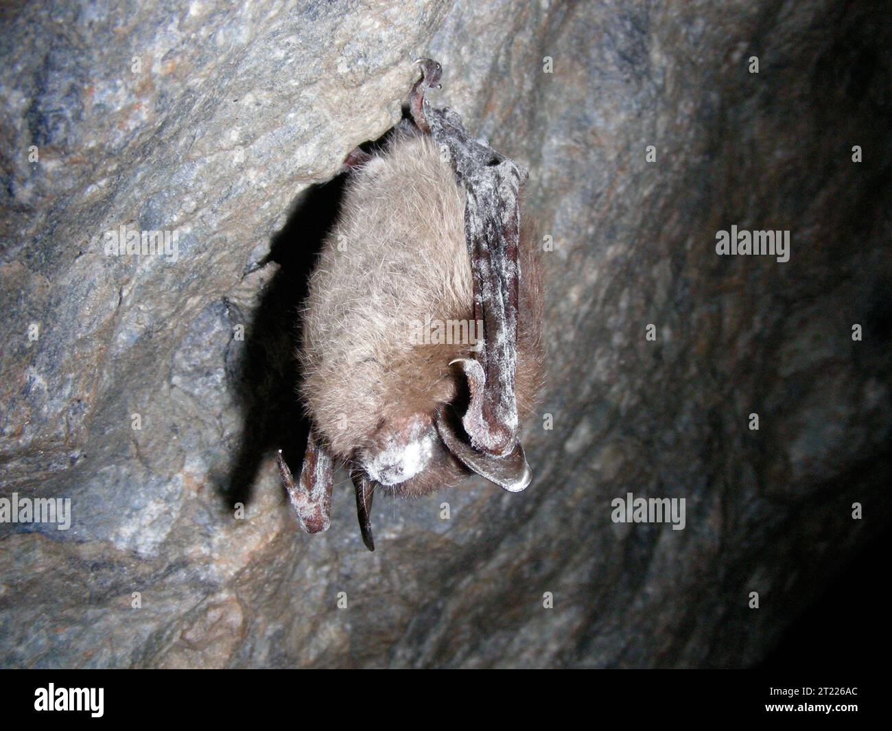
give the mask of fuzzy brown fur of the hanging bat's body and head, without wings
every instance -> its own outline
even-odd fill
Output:
[[[336,461],[359,463],[394,494],[418,496],[470,471],[446,449],[438,410],[467,407],[456,358],[472,345],[421,345],[413,321],[474,320],[465,192],[434,140],[405,126],[351,171],[339,220],[319,254],[302,313],[301,397]],[[541,270],[522,214],[516,399],[541,390]]]

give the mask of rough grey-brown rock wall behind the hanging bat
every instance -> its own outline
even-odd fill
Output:
[[[0,11],[0,496],[72,515],[0,525],[0,665],[747,666],[888,524],[879,5],[125,6]],[[297,532],[273,450],[299,466],[337,200],[308,186],[419,55],[530,170],[550,386],[530,489],[381,501],[369,553],[346,476]],[[731,225],[789,229],[789,262],[716,255]],[[107,255],[122,226],[176,255]],[[685,529],[614,523],[627,492]]]

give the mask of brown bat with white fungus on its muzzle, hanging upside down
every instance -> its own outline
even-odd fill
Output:
[[[381,154],[348,155],[343,210],[310,277],[300,360],[312,426],[296,483],[278,453],[308,533],[330,524],[335,463],[350,469],[369,551],[377,491],[418,496],[472,472],[528,486],[517,426],[541,387],[526,170],[432,108],[441,66],[417,63],[415,124]]]

